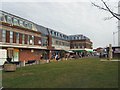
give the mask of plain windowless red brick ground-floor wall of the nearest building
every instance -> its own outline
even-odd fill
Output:
[[[40,60],[40,56],[40,50],[34,50],[34,52],[31,52],[31,49],[23,49],[19,52],[20,61]]]

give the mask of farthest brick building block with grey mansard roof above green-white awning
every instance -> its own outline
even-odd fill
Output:
[[[82,34],[80,35],[70,35],[70,50],[76,52],[78,55],[84,54],[88,55],[90,52],[93,52],[92,42],[90,39]]]

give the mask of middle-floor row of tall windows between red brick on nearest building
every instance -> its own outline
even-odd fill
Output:
[[[15,37],[13,34],[16,34]],[[20,34],[21,33],[17,33],[17,32],[13,32],[10,31],[9,33],[9,42],[10,43],[14,43],[14,38],[16,38],[16,43],[20,44]],[[35,36],[31,36],[31,35],[27,35],[27,37],[25,37],[26,34],[21,34],[22,35],[22,43],[21,44],[30,44],[30,45],[34,45],[35,42]],[[2,42],[7,42],[6,39],[7,38],[7,30],[2,30]],[[25,43],[25,41],[27,41],[27,43]],[[41,44],[41,40],[38,40],[38,44]]]

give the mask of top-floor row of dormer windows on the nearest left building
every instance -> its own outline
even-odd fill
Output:
[[[31,22],[5,14],[3,12],[0,13],[0,21],[7,22],[16,26],[25,27],[28,29],[33,29],[33,24]]]

